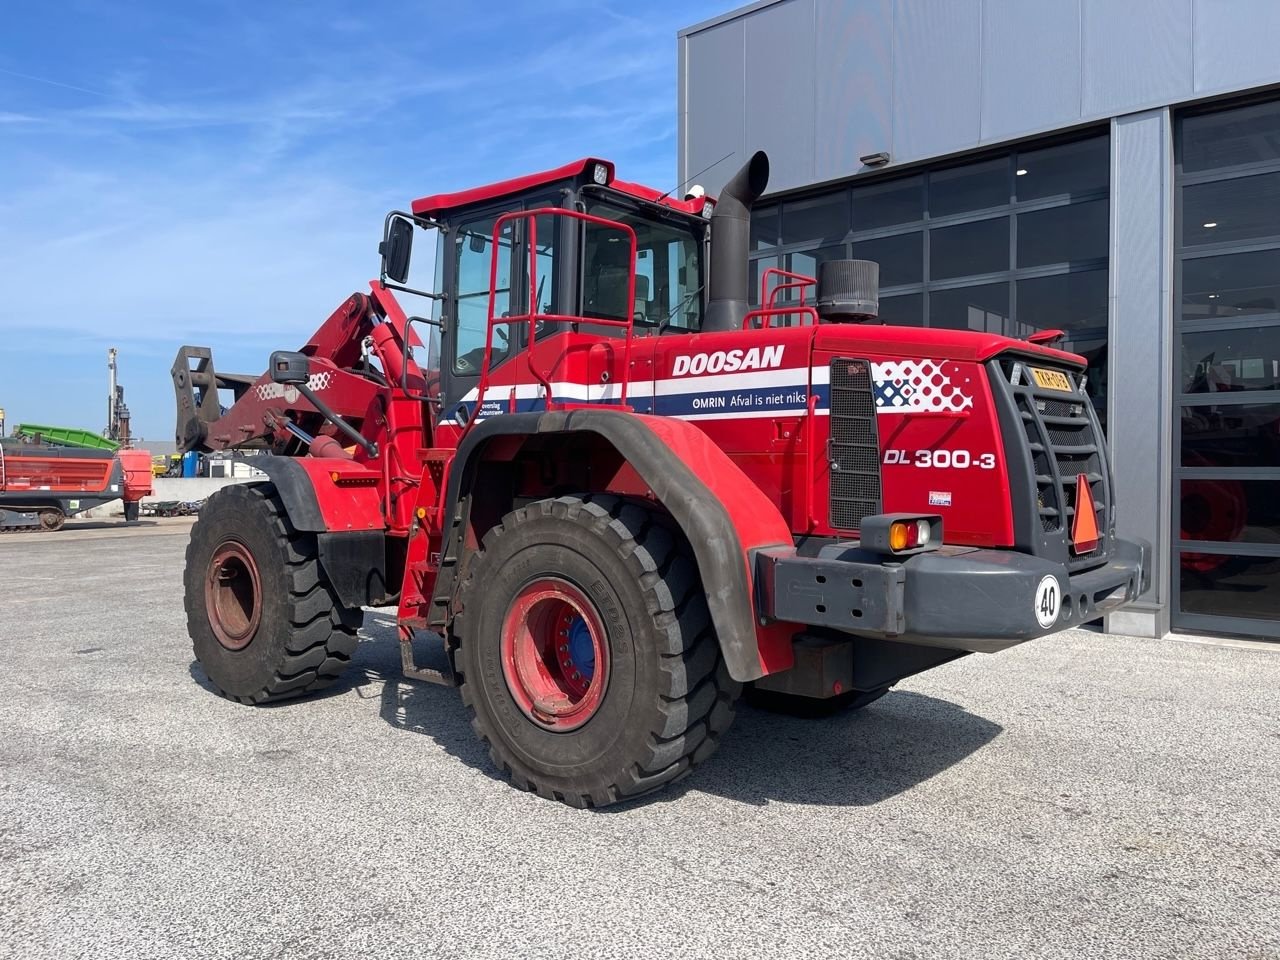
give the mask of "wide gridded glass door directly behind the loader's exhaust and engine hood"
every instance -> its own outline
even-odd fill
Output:
[[[1105,419],[1110,169],[1102,134],[760,205],[753,300],[768,268],[813,276],[823,260],[876,260],[884,323],[1064,330]]]

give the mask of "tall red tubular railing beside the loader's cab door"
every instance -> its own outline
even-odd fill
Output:
[[[608,317],[595,317],[595,316],[570,316],[567,314],[539,314],[538,308],[538,218],[539,216],[567,216],[571,220],[580,220],[581,223],[595,224],[605,229],[617,230],[622,233],[631,247],[631,255],[627,259],[630,268],[627,270],[627,298],[626,303],[626,319],[625,320],[612,320]],[[500,252],[500,239],[502,232],[509,223],[516,223],[517,220],[526,220],[527,237],[525,243],[529,247],[529,311],[527,314],[520,314],[516,316],[495,316],[494,310],[497,307],[497,291],[498,291],[498,256]],[[554,279],[553,279],[554,283]],[[495,326],[517,326],[520,324],[529,325],[529,343],[525,348],[525,356],[529,364],[529,371],[534,375],[534,379],[541,385],[545,394],[547,410],[563,410],[580,406],[591,406],[590,403],[559,403],[557,404],[554,397],[552,396],[552,381],[549,372],[544,372],[538,369],[534,362],[534,342],[538,335],[539,323],[572,323],[572,324],[590,324],[594,326],[618,326],[626,330],[626,338],[622,346],[622,370],[623,375],[618,378],[620,380],[620,397],[618,403],[621,410],[630,410],[627,406],[627,380],[631,370],[631,340],[635,333],[635,314],[634,305],[636,302],[636,232],[631,229],[625,223],[618,223],[617,220],[609,220],[603,216],[593,216],[591,214],[584,214],[579,210],[563,210],[561,207],[539,207],[536,210],[516,210],[509,214],[503,214],[499,216],[493,225],[493,260],[489,266],[489,317],[485,325],[485,339],[484,339],[484,361],[480,367],[480,383],[476,385],[476,407],[471,416],[467,417],[466,425],[462,428],[462,434],[466,435],[471,430],[472,425],[480,420],[480,411],[484,410],[485,393],[489,388],[489,365],[493,361],[493,330]],[[516,406],[516,387],[511,388],[511,397],[508,399],[508,410],[513,411]],[[460,438],[461,439],[461,438]]]

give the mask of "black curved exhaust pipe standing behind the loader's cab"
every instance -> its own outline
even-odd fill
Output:
[[[751,237],[751,205],[769,184],[769,155],[758,150],[733,174],[716,201],[712,214],[712,262],[704,330],[739,330],[751,298],[748,243]]]

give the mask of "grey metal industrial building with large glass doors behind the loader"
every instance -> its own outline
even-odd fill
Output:
[[[678,36],[681,182],[772,161],[754,278],[877,260],[888,323],[1088,358],[1157,557],[1119,632],[1280,626],[1277,37],[1272,0],[762,0]]]

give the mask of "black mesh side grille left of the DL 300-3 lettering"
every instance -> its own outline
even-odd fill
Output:
[[[858,530],[863,518],[879,513],[879,435],[870,364],[837,357],[831,361],[831,525]]]

